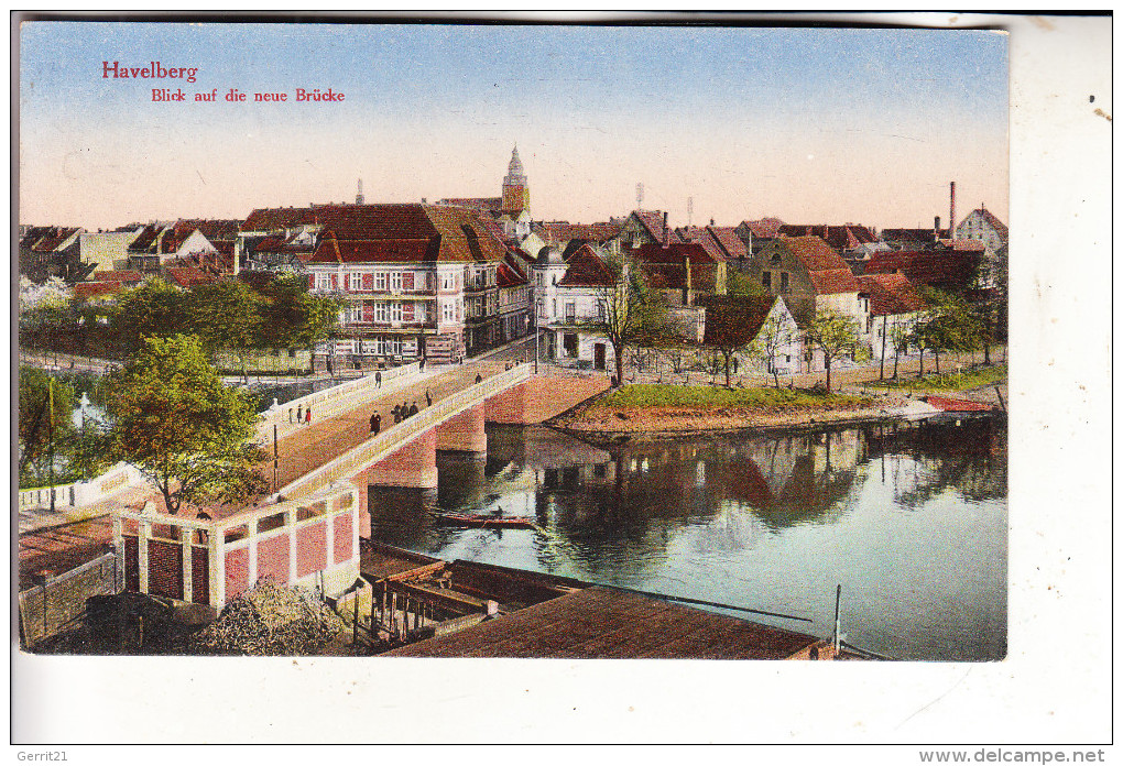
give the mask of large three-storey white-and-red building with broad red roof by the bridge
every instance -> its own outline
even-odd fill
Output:
[[[305,264],[309,286],[347,301],[340,337],[318,353],[350,365],[450,362],[501,343],[508,250],[478,211],[341,204],[314,215],[321,230]]]

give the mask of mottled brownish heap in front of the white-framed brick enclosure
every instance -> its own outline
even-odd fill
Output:
[[[191,648],[198,654],[309,655],[341,628],[339,617],[310,592],[265,577],[195,633]]]

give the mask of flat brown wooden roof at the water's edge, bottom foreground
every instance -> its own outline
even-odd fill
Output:
[[[784,659],[818,640],[805,633],[594,586],[383,656]]]

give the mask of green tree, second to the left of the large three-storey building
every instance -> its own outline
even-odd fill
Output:
[[[203,347],[213,354],[228,348],[241,362],[241,376],[249,382],[246,356],[262,343],[262,298],[240,280],[200,284],[188,297],[188,314]]]

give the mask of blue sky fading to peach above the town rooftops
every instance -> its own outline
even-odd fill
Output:
[[[536,220],[627,215],[642,183],[673,226],[928,227],[950,181],[958,219],[1008,220],[1001,31],[29,21],[19,56],[22,224],[245,218],[359,177],[367,202],[497,197],[515,144]]]

